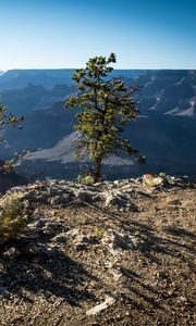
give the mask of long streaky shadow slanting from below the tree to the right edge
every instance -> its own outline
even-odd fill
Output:
[[[95,206],[95,205],[94,205]],[[107,209],[96,205],[96,210],[108,216],[112,222],[117,221],[117,228],[128,235],[137,235],[138,244],[133,247],[132,250],[140,251],[151,262],[159,264],[157,253],[170,255],[172,258],[183,256],[184,253],[194,255],[196,253],[196,247],[193,246],[189,239],[195,239],[196,236],[182,228],[166,228],[161,229],[161,235],[154,229],[152,226],[134,221],[134,218],[122,217],[120,212],[109,212]],[[171,239],[170,235],[183,236],[186,238],[185,243],[177,239]]]

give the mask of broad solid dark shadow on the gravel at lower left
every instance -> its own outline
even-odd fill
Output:
[[[34,237],[12,241],[1,250],[0,294],[15,294],[29,301],[26,292],[62,298],[71,305],[79,306],[85,300],[95,297],[85,288],[85,284],[97,280],[79,262],[64,253],[52,238],[62,231],[62,226],[53,224],[46,235],[37,231]],[[13,251],[13,253],[12,253]]]

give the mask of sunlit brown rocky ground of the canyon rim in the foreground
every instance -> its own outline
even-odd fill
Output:
[[[195,183],[51,180],[13,192],[29,217],[25,236],[0,247],[0,325],[196,324]]]

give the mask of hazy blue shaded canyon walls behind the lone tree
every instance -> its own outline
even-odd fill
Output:
[[[7,131],[8,145],[13,151],[34,153],[20,166],[21,172],[71,178],[73,166],[69,164],[76,163],[69,163],[72,149],[65,150],[65,139],[73,133],[76,111],[63,110],[63,103],[77,91],[72,73],[73,70],[13,70],[0,76],[1,102],[9,112],[24,116],[22,130]],[[121,76],[127,85],[134,82],[140,86],[136,93],[139,116],[127,126],[125,137],[147,156],[147,163],[130,166],[124,164],[127,161],[112,158],[107,177],[159,172],[196,176],[196,71],[115,70],[112,75]],[[61,149],[62,155],[57,160]],[[0,150],[7,158],[9,147]],[[78,174],[78,166],[74,174]]]

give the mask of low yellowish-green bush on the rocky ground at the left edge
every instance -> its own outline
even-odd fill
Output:
[[[8,196],[0,202],[0,243],[21,236],[26,226],[23,203],[17,195]]]

